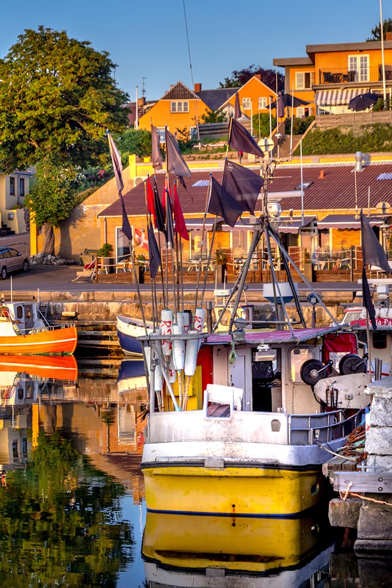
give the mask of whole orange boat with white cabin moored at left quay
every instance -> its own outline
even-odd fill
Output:
[[[35,302],[2,302],[0,354],[68,355],[76,349],[75,325],[49,325]]]

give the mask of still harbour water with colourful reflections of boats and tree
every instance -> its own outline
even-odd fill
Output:
[[[341,577],[327,505],[293,520],[146,513],[142,362],[0,358],[0,395],[2,587],[367,585],[353,556]]]

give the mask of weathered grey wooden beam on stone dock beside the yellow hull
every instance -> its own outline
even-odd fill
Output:
[[[333,489],[336,492],[349,489],[349,492],[392,493],[392,473],[334,472]]]

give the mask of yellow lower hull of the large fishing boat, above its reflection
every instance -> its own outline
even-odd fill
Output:
[[[321,467],[143,466],[150,512],[294,517],[325,499]]]

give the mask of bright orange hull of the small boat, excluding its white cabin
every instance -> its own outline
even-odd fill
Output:
[[[68,355],[78,342],[75,326],[39,330],[28,335],[0,336],[0,353],[9,355]]]

